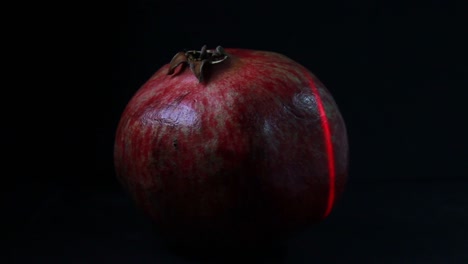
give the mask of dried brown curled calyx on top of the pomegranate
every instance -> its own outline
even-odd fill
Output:
[[[229,56],[221,46],[216,47],[215,50],[207,50],[206,45],[204,45],[200,51],[181,51],[172,58],[167,74],[173,74],[179,65],[185,67],[188,64],[190,66],[190,70],[197,77],[198,81],[203,82],[203,71],[206,64],[217,64],[225,61],[228,57]]]

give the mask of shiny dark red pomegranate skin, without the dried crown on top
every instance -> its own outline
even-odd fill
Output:
[[[116,131],[119,181],[180,243],[283,238],[323,221],[347,180],[346,127],[325,86],[284,55],[225,51],[203,82],[161,67]]]

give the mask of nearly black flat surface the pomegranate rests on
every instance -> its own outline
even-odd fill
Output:
[[[326,221],[282,250],[204,258],[168,250],[117,185],[46,193],[23,215],[7,263],[468,263],[462,181],[350,184]]]

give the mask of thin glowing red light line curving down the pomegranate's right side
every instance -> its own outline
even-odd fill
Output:
[[[335,156],[333,153],[333,143],[331,141],[331,134],[330,134],[330,124],[328,122],[327,114],[325,112],[325,108],[323,106],[322,98],[320,98],[320,93],[318,91],[317,86],[315,86],[314,80],[309,77],[307,74],[307,78],[309,79],[309,85],[312,89],[312,93],[317,102],[317,108],[320,114],[320,121],[322,124],[323,130],[323,139],[325,142],[325,151],[327,153],[327,162],[328,162],[328,200],[327,200],[327,209],[325,210],[325,214],[323,217],[327,217],[331,209],[333,207],[333,202],[335,201]]]

